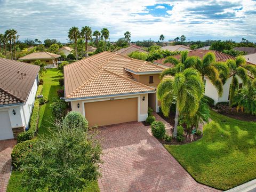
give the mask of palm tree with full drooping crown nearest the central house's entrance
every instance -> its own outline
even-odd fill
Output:
[[[157,86],[157,97],[161,100],[161,109],[165,116],[169,115],[170,107],[176,100],[174,137],[177,137],[180,111],[186,108],[188,115],[195,115],[204,95],[201,75],[196,69],[184,68],[185,66],[179,63],[174,68],[164,70],[161,74],[161,82]]]

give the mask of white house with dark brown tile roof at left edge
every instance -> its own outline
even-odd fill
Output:
[[[40,67],[0,58],[0,140],[13,139],[29,126]]]

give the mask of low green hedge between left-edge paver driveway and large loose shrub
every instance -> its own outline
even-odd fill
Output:
[[[29,149],[33,147],[37,140],[31,139],[21,143],[18,143],[14,146],[12,150],[12,165],[14,169],[18,169],[22,163],[22,156],[25,154]]]

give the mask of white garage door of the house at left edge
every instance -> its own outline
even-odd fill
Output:
[[[13,139],[8,111],[0,111],[0,140]]]

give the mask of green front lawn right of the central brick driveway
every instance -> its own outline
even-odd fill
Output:
[[[192,177],[227,190],[256,178],[256,123],[238,121],[211,111],[203,138],[165,148]]]

